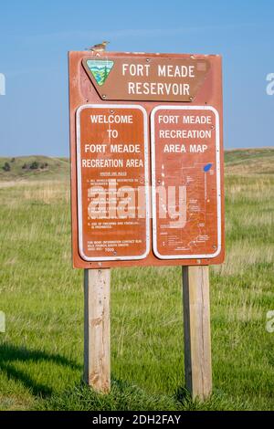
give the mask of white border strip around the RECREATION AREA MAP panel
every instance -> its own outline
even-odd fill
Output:
[[[155,177],[155,113],[158,110],[211,110],[216,116],[216,209],[217,209],[217,248],[213,254],[207,255],[161,255],[157,249],[157,213],[156,213],[156,177]],[[152,213],[153,213],[153,253],[159,259],[204,259],[219,255],[221,251],[221,180],[220,180],[220,125],[219,114],[213,106],[156,106],[151,113],[151,147],[152,147]]]

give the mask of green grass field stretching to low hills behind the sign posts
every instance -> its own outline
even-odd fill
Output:
[[[112,391],[83,386],[68,162],[42,157],[46,168],[28,168],[36,158],[0,160],[11,166],[0,173],[0,410],[274,410],[274,150],[226,153],[227,258],[210,268],[205,403],[184,392],[180,267],[112,270]]]

